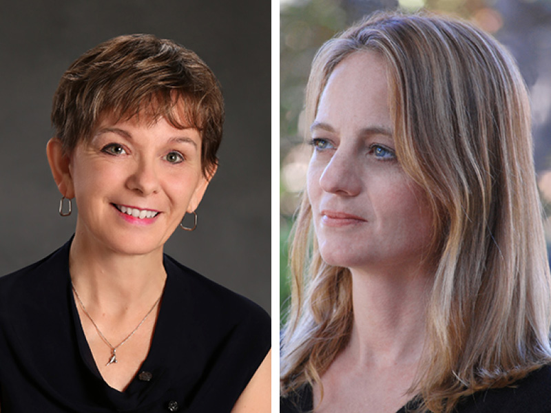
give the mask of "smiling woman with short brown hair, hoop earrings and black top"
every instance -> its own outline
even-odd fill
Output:
[[[0,279],[2,412],[269,411],[269,316],[163,255],[198,224],[223,120],[209,67],[155,36],[63,74],[47,153],[76,230]]]

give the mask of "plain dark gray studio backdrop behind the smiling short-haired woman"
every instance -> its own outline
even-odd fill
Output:
[[[194,50],[226,103],[220,167],[165,252],[270,310],[270,2],[27,0],[0,3],[0,275],[65,243],[45,145],[61,74],[119,34],[152,33]]]

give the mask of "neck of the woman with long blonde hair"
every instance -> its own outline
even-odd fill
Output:
[[[425,339],[430,273],[351,269],[354,321],[347,348],[358,368],[417,366]]]

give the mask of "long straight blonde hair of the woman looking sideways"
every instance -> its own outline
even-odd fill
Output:
[[[551,281],[526,85],[503,46],[468,23],[376,14],[318,51],[306,125],[335,66],[362,50],[386,60],[397,158],[434,217],[438,260],[412,389],[420,411],[450,412],[461,396],[503,387],[551,360]],[[353,320],[350,272],[323,262],[306,196],[291,273],[282,396],[320,384]]]

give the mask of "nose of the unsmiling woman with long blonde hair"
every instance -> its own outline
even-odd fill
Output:
[[[360,168],[350,153],[335,151],[320,176],[320,187],[329,193],[343,196],[358,195],[362,189]]]

